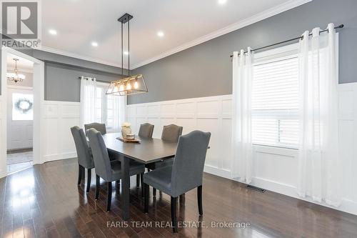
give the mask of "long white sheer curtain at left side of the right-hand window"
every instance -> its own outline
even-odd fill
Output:
[[[251,182],[251,85],[253,56],[251,48],[244,54],[233,52],[233,163],[231,176],[242,182]]]

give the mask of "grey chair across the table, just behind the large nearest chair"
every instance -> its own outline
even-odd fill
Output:
[[[178,138],[181,137],[182,129],[183,127],[178,127],[174,124],[164,126],[161,133],[161,139],[165,142],[177,143]],[[145,167],[150,171],[165,166],[171,166],[172,164],[174,164],[174,158],[165,159],[164,161],[161,162],[146,164]],[[153,196],[154,197],[156,196],[156,189],[154,187],[153,187]]]

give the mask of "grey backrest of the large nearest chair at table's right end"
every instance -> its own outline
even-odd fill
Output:
[[[202,185],[210,132],[193,131],[178,139],[171,174],[171,191],[174,197]]]

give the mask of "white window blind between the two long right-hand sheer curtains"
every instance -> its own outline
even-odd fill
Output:
[[[253,66],[252,142],[298,147],[298,57]]]

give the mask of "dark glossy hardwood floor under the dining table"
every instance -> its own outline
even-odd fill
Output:
[[[77,186],[77,172],[76,159],[66,159],[0,179],[1,237],[357,237],[357,216],[273,192],[255,192],[211,174],[203,177],[203,217],[198,217],[196,189],[177,206],[178,222],[202,222],[204,227],[191,223],[173,234],[166,223],[171,222],[170,197],[160,192],[154,201],[151,196],[149,214],[144,214],[135,176],[131,219],[125,223],[119,184],[113,184],[111,212],[105,212],[104,184],[96,201],[95,179],[86,194],[84,180]],[[156,227],[156,222],[165,227]],[[214,228],[211,222],[248,222],[250,227]]]

